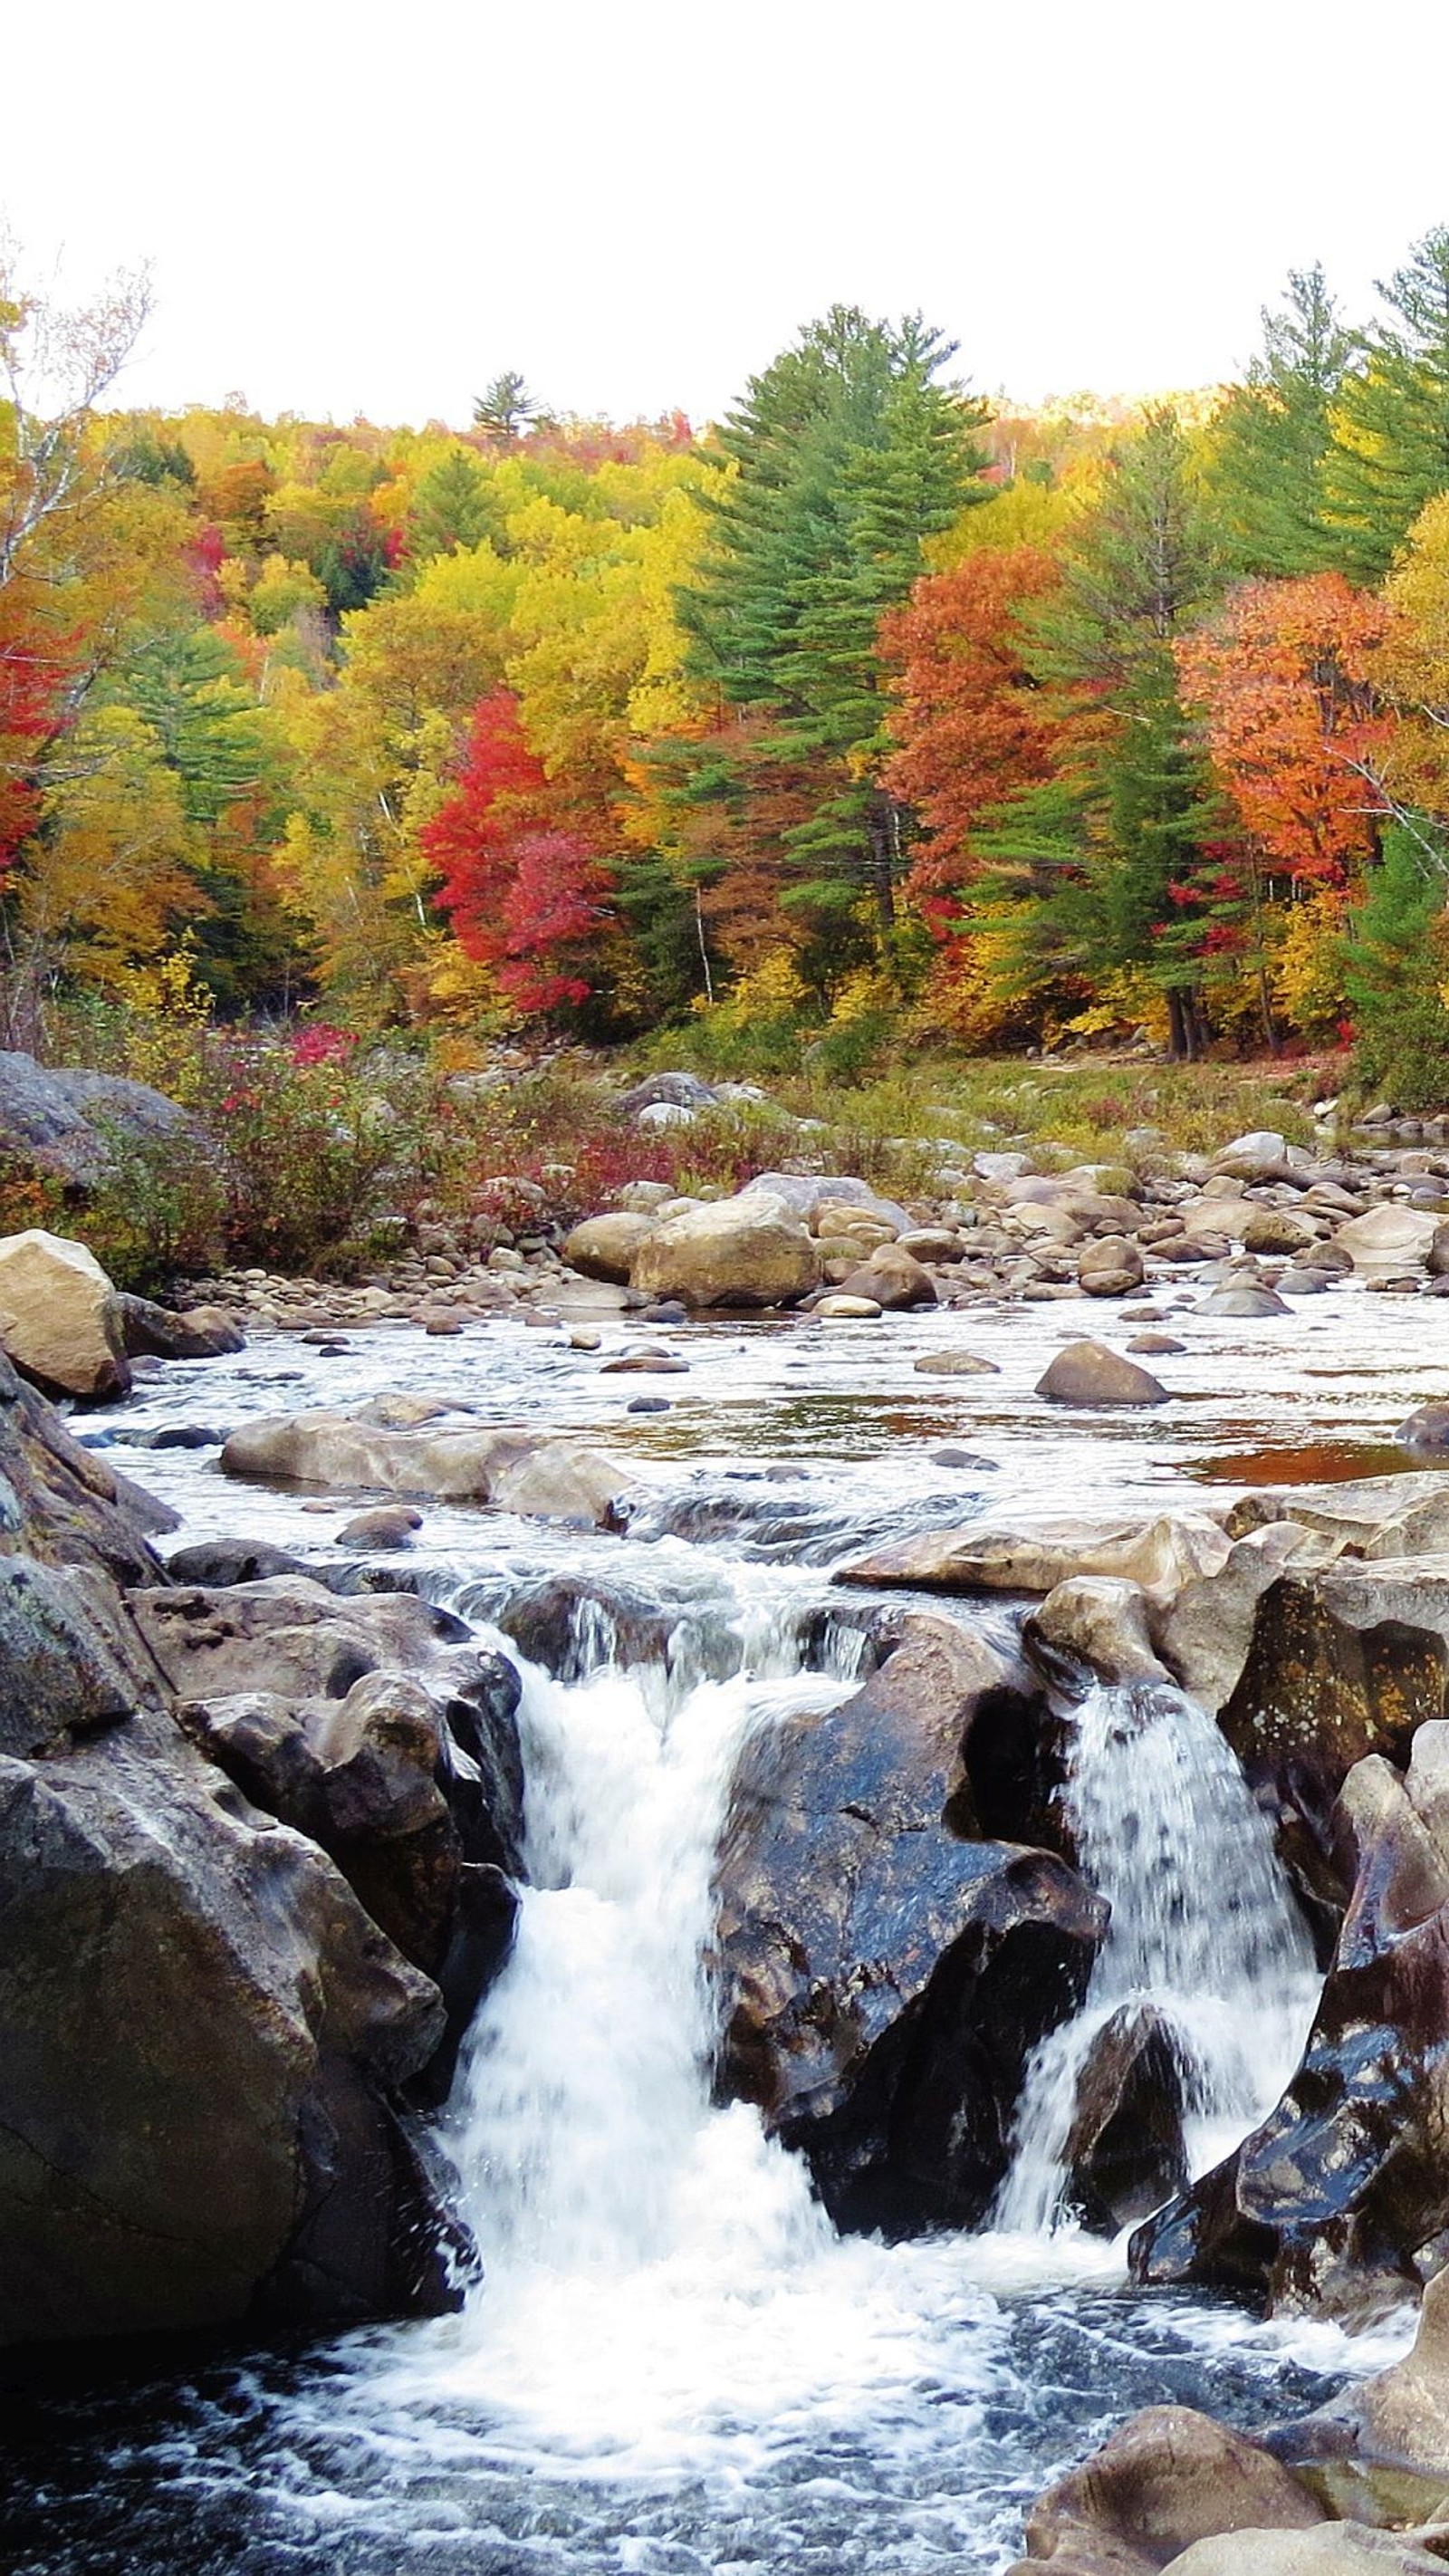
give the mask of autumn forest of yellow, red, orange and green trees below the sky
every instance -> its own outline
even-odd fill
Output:
[[[3,1043],[62,992],[854,1079],[1449,1090],[1449,229],[1241,384],[1011,410],[836,307],[728,417],[124,407],[0,276]]]

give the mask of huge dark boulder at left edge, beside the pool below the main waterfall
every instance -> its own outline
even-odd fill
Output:
[[[170,1716],[0,1757],[0,2342],[450,2306],[394,2099],[443,2032]]]

